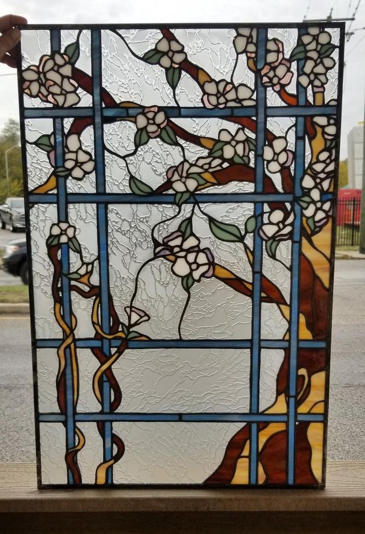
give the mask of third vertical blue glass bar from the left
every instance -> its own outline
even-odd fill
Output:
[[[263,147],[265,144],[265,108],[266,90],[261,84],[260,70],[265,65],[266,56],[265,28],[257,32],[257,65],[256,65],[256,172],[255,193],[262,193],[264,189],[264,161]],[[263,244],[259,235],[263,217],[263,204],[255,204],[256,230],[253,237],[253,271],[252,271],[252,349],[251,349],[251,388],[250,413],[258,413],[260,409],[260,338],[261,338],[261,264],[263,261]],[[250,426],[250,483],[257,484],[258,473],[258,426]]]

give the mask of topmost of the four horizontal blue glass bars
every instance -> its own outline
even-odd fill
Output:
[[[207,109],[205,107],[177,107],[161,106],[161,111],[173,118],[204,117],[255,117],[256,107],[233,107],[225,109]],[[144,110],[142,107],[103,107],[102,114],[104,117],[133,117]],[[315,115],[335,115],[336,106],[271,106],[267,107],[266,115],[268,117],[296,117],[298,115],[315,116]],[[35,107],[25,108],[24,115],[26,119],[42,119],[45,117],[88,117],[92,116],[92,107],[73,107],[73,108],[49,108]]]

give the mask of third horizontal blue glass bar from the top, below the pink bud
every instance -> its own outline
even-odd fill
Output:
[[[38,339],[36,347],[38,349],[52,349],[59,347],[61,339]],[[112,347],[118,347],[121,343],[120,339],[113,339],[110,342]],[[76,339],[76,347],[82,349],[89,349],[92,347],[101,347],[101,340],[92,338]],[[129,347],[131,349],[249,349],[251,347],[251,340],[249,339],[151,339],[146,341],[130,341]],[[261,339],[260,347],[262,349],[286,349],[289,347],[287,340],[267,340]],[[326,348],[326,341],[316,340],[302,340],[299,341],[299,348],[301,349],[324,349]]]

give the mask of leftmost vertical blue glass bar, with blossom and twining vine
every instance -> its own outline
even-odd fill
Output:
[[[53,52],[61,49],[61,35],[59,30],[51,32],[51,49]],[[64,125],[62,119],[53,119],[53,134],[55,148],[55,167],[61,167],[64,164]],[[59,222],[68,221],[67,213],[67,184],[66,178],[57,178],[57,215]],[[69,272],[69,249],[68,245],[61,245],[61,263],[62,263],[62,312],[65,323],[71,324],[71,307],[69,280],[66,274]],[[75,446],[75,413],[74,413],[74,384],[72,376],[70,350],[65,351],[65,376],[66,376],[66,447],[67,450]],[[73,476],[70,470],[67,470],[67,480],[73,484]]]

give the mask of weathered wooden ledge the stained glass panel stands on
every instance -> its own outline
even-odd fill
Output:
[[[0,464],[0,513],[364,512],[365,461],[329,461],[325,490],[37,490],[35,465]]]

